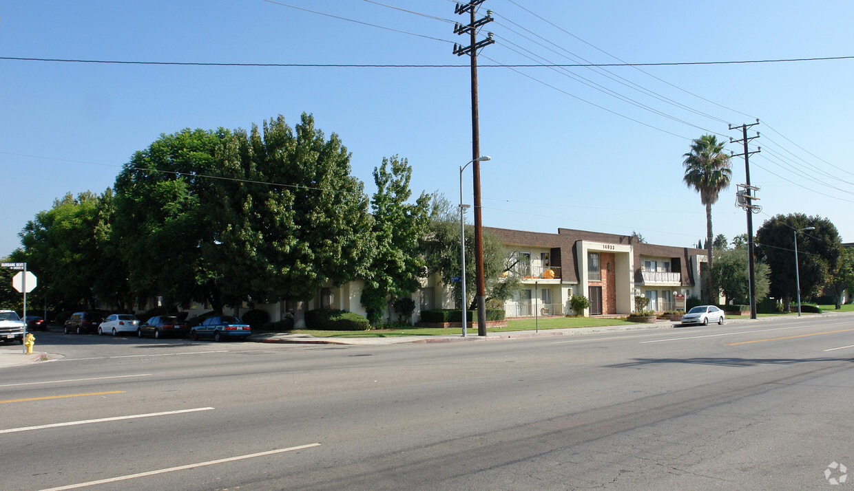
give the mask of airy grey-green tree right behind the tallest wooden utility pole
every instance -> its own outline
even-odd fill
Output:
[[[460,299],[460,284],[451,282],[462,272],[459,254],[459,214],[442,194],[433,194],[430,203],[430,226],[422,239],[427,269],[442,275],[442,282],[453,287],[454,296]],[[520,281],[512,271],[517,259],[506,251],[493,234],[483,232],[483,278],[488,299],[507,300],[518,292]],[[475,298],[475,246],[474,227],[465,226],[465,292],[463,304],[471,305]]]

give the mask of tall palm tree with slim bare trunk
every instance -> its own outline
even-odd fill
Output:
[[[718,142],[714,135],[704,135],[691,142],[691,151],[683,155],[685,161],[685,182],[689,189],[699,193],[699,200],[705,205],[705,245],[709,251],[709,274],[707,276],[708,295],[711,300],[714,295],[714,280],[711,278],[711,205],[717,202],[717,195],[729,187],[729,178],[733,171],[730,169],[729,155],[724,153],[723,142]]]

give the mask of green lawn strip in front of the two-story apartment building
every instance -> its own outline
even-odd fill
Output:
[[[590,319],[588,317],[552,317],[539,321],[540,329],[563,329],[568,327],[593,327],[593,326],[624,326],[636,325],[635,322],[620,321],[618,319]],[[537,328],[535,321],[512,320],[507,321],[506,327],[488,327],[487,332],[509,332],[509,331],[533,331]],[[254,333],[265,331],[254,330]],[[308,334],[315,338],[399,338],[401,336],[461,336],[460,327],[397,327],[395,329],[373,329],[371,331],[315,331],[312,329],[295,329],[294,334]],[[468,334],[477,336],[477,326],[470,327]]]

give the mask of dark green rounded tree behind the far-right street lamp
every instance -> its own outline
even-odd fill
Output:
[[[801,297],[819,294],[837,268],[841,243],[833,222],[804,213],[776,215],[757,230],[757,257],[768,263],[770,296],[788,304],[798,293],[795,282],[795,231],[815,227],[798,234],[798,275]]]

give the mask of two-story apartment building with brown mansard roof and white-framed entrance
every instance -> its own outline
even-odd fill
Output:
[[[572,313],[572,295],[590,300],[585,315],[624,315],[635,296],[648,299],[646,309],[676,309],[677,297],[699,297],[705,274],[705,251],[652,245],[629,235],[559,228],[557,234],[484,228],[500,238],[518,259],[523,289],[506,302],[508,317]]]

